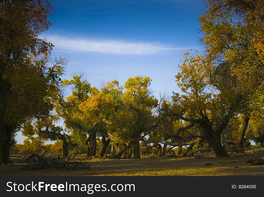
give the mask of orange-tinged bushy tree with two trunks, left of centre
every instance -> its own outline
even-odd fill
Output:
[[[65,119],[66,127],[75,130],[71,135],[88,134],[84,140],[88,157],[96,155],[97,138],[101,137],[99,155],[103,157],[110,143],[109,134],[113,134],[110,125],[116,121],[116,112],[121,105],[122,86],[113,80],[99,91],[77,75],[72,80],[64,80],[63,85],[72,85],[73,91],[65,100],[58,102],[58,114]]]

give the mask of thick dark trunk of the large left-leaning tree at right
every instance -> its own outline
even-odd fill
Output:
[[[220,139],[221,133],[216,133],[212,129],[212,124],[209,121],[200,124],[202,136],[208,142],[208,145],[213,148],[216,157],[229,157],[226,149],[223,147]]]

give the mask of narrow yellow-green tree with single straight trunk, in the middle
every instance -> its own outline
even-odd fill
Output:
[[[131,140],[134,158],[140,159],[140,140],[152,132],[155,123],[152,110],[158,106],[158,99],[149,88],[152,79],[149,76],[135,76],[125,82],[122,96],[122,123],[119,130]]]

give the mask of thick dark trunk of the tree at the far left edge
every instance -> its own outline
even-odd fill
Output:
[[[12,126],[0,125],[0,164],[8,163]]]

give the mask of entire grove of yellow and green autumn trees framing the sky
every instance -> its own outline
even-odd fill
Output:
[[[51,25],[52,4],[1,0],[0,163],[8,163],[18,131],[28,139],[13,152],[49,149],[64,157],[85,150],[86,157],[140,159],[153,148],[159,156],[211,148],[217,157],[229,157],[229,151],[243,152],[249,140],[263,146],[263,1],[205,4],[199,17],[204,50],[182,54],[175,73],[181,92],[158,99],[149,76],[123,85],[114,79],[100,88],[83,73],[62,80],[67,56],[53,57],[52,43],[38,37]]]

